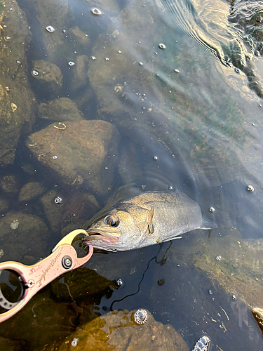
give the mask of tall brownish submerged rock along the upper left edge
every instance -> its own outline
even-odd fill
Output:
[[[1,0],[0,6],[0,166],[6,166],[13,164],[20,133],[31,131],[35,117],[25,55],[31,39],[29,25],[17,1],[6,6]]]

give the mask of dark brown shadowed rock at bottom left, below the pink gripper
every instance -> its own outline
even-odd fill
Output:
[[[21,350],[39,350],[39,347],[72,333],[81,314],[83,307],[74,302],[58,303],[50,298],[49,289],[43,290],[20,312],[1,323],[0,335],[15,340],[17,347],[23,346]]]

